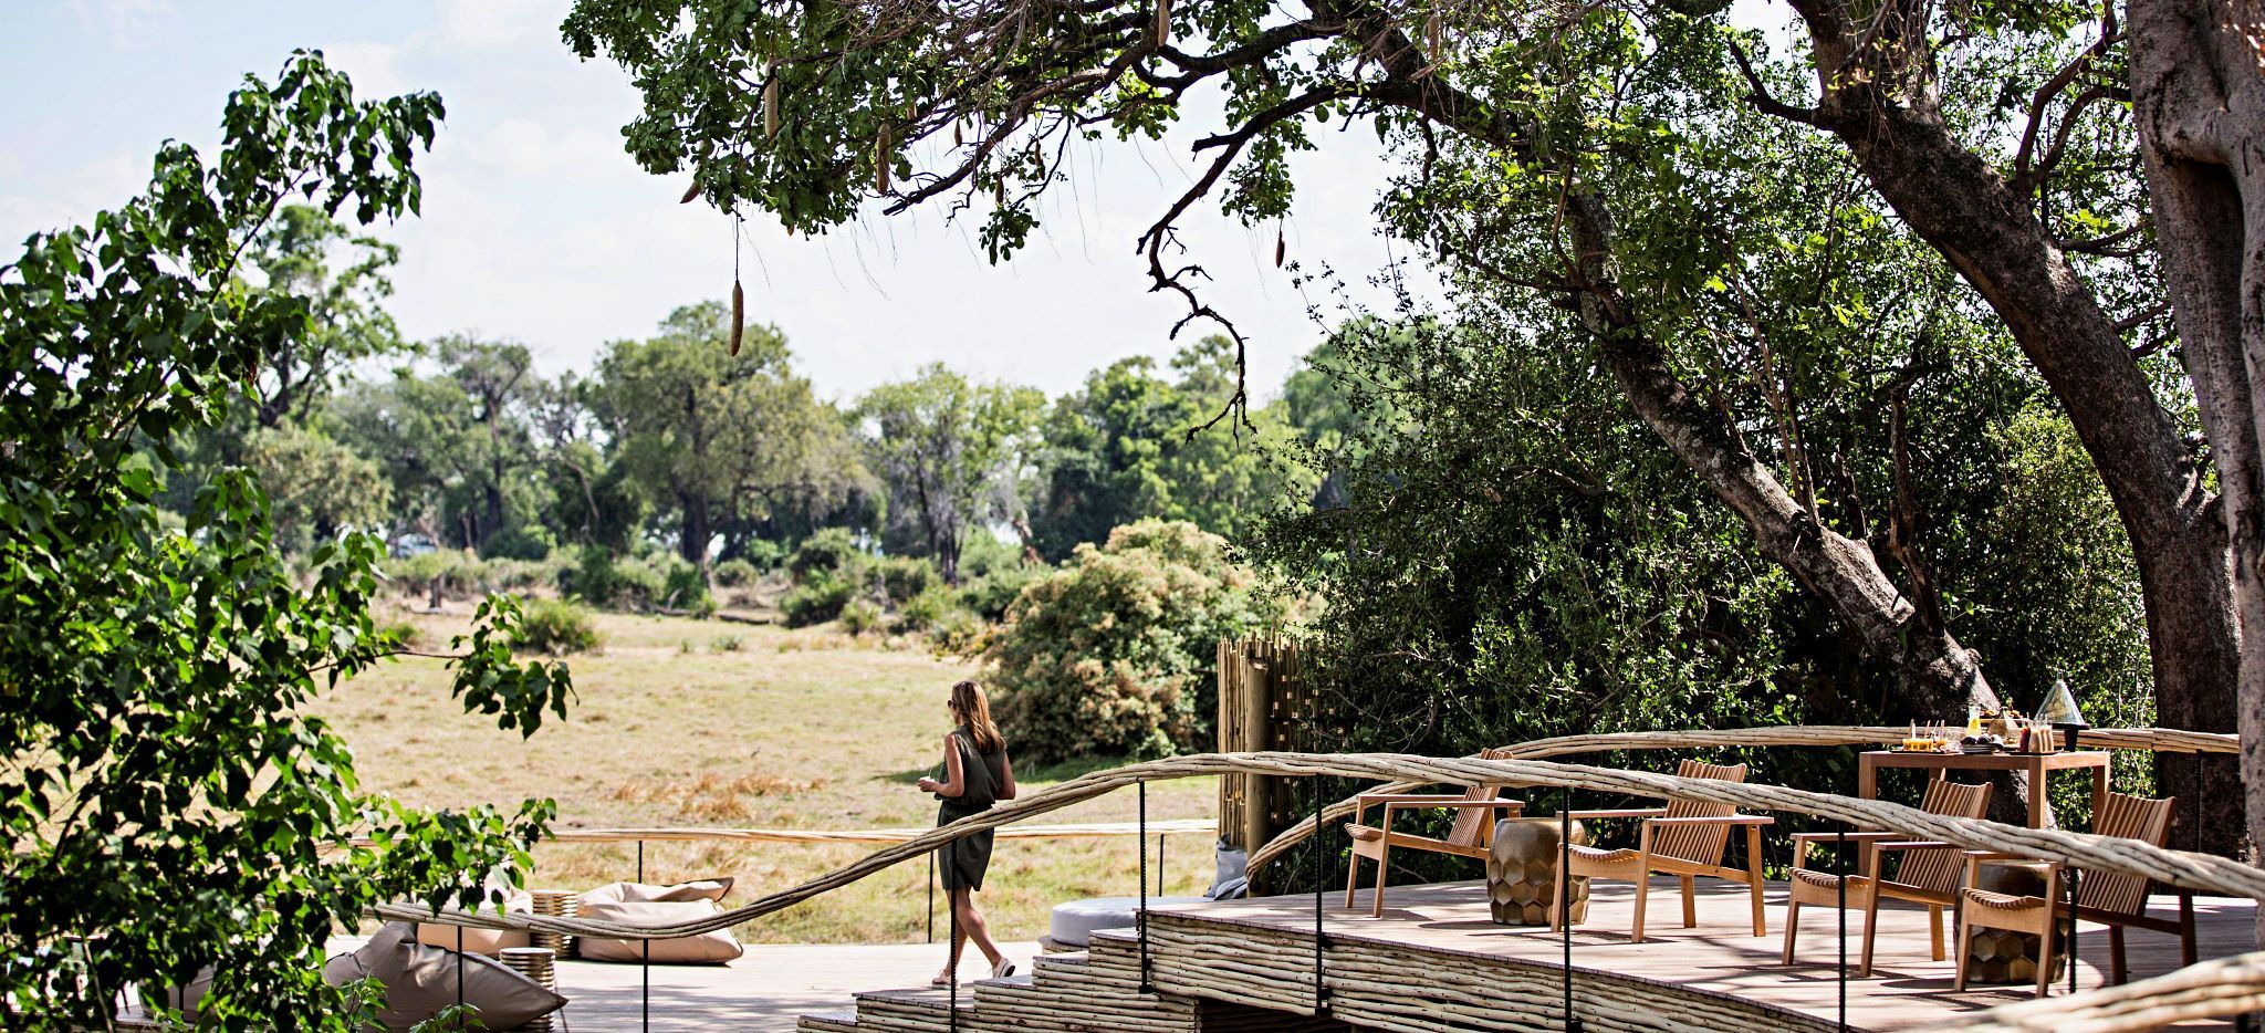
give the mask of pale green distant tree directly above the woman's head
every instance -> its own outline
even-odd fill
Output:
[[[858,401],[872,464],[888,485],[890,539],[935,560],[947,584],[960,582],[967,528],[1022,516],[1044,401],[1035,387],[974,383],[942,362]]]

